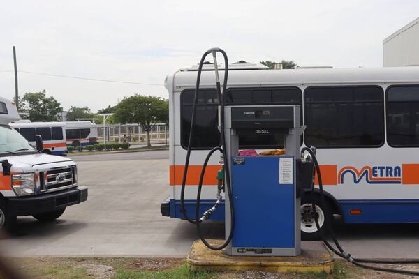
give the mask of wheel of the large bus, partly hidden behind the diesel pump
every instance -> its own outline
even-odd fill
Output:
[[[313,208],[311,206],[311,195],[307,193],[301,197],[301,239],[304,241],[321,240],[321,232],[318,231],[314,221]],[[323,234],[326,235],[326,228],[332,225],[333,215],[327,202],[321,203],[321,198],[314,195],[314,204],[318,225],[320,225]]]

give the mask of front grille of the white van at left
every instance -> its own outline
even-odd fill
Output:
[[[59,169],[50,169],[40,173],[41,190],[59,190],[59,188],[68,188],[76,183],[75,167],[61,167]]]

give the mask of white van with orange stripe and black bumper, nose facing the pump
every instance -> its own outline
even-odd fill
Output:
[[[15,103],[0,97],[0,229],[12,229],[17,216],[51,221],[67,206],[87,200],[78,186],[73,160],[41,153],[9,123],[20,120]]]

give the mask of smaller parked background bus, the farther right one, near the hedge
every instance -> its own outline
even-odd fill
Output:
[[[66,123],[67,145],[87,146],[98,143],[98,128],[90,121],[70,121]]]

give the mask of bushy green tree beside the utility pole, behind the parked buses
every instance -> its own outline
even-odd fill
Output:
[[[31,121],[59,121],[57,114],[63,111],[54,97],[46,96],[45,90],[36,93],[25,93],[19,101],[19,111],[29,113]]]

